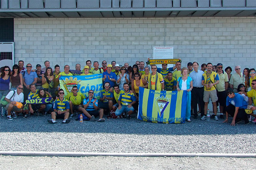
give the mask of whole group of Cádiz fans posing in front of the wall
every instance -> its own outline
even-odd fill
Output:
[[[86,61],[84,69],[76,64],[75,70],[70,70],[69,65],[64,66],[64,71],[60,72],[60,66],[50,67],[50,62],[44,62],[45,67],[40,64],[36,69],[30,63],[19,61],[12,70],[8,66],[1,68],[0,75],[0,98],[5,96],[9,102],[1,111],[1,116],[6,116],[12,120],[17,117],[17,113],[24,113],[27,118],[29,113],[35,115],[46,115],[51,113],[52,119],[49,123],[56,123],[56,119],[64,119],[62,123],[69,123],[71,117],[81,113],[83,119],[104,122],[104,113],[108,117],[127,117],[131,119],[131,114],[138,111],[139,87],[157,91],[187,91],[186,120],[191,121],[191,115],[197,119],[201,114],[201,119],[207,117],[209,99],[212,101],[212,119],[218,121],[217,106],[220,106],[220,118],[224,119],[228,115],[233,116],[231,125],[244,120],[247,124],[251,118],[256,117],[253,105],[256,98],[256,77],[255,69],[245,68],[241,73],[241,67],[235,66],[235,74],[231,74],[232,68],[227,67],[223,71],[223,65],[218,63],[202,64],[199,70],[198,62],[189,62],[187,67],[181,68],[181,60],[176,62],[174,67],[167,68],[167,64],[162,64],[162,68],[157,65],[145,66],[145,62],[137,61],[134,65],[124,66],[112,61],[107,64],[102,61],[94,61],[93,67],[90,60]],[[150,72],[151,70],[151,72]],[[61,76],[83,76],[92,74],[102,74],[103,90],[100,99],[93,97],[93,90],[88,91],[88,96],[79,92],[77,86],[73,86],[72,92],[64,96],[64,90],[59,88],[59,78]],[[9,84],[11,88],[9,89]],[[23,96],[23,97],[22,97]],[[54,102],[41,105],[29,104],[28,109],[17,108],[15,102],[23,102],[27,99],[47,98],[54,99]],[[241,101],[240,101],[241,100]],[[252,112],[246,113],[247,106]],[[241,110],[240,110],[241,109]],[[233,114],[234,112],[234,114]],[[125,115],[127,113],[127,115]],[[248,116],[249,115],[249,116]],[[227,119],[224,120],[227,122]],[[256,119],[253,120],[256,122]]]

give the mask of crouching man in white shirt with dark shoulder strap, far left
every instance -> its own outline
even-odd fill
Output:
[[[7,110],[7,119],[8,120],[13,119],[11,112],[13,112],[13,111],[15,111],[15,113],[23,112],[23,107],[17,108],[17,106],[16,106],[16,102],[20,102],[20,103],[24,102],[24,95],[22,93],[22,90],[23,90],[23,86],[19,85],[17,87],[17,90],[10,91],[4,98],[6,100],[6,102],[9,102],[5,107],[5,109]]]

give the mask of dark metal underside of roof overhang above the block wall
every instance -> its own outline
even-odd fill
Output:
[[[0,9],[0,18],[255,17],[256,7]]]

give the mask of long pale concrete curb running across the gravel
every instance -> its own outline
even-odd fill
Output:
[[[124,157],[233,157],[255,158],[256,153],[94,153],[94,152],[23,152],[0,151],[3,156],[124,156]]]

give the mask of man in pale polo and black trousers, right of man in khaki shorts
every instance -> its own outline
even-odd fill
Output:
[[[219,83],[216,85],[218,90],[218,102],[220,104],[220,118],[224,119],[223,113],[226,113],[226,90],[228,88],[228,77],[227,73],[223,71],[223,65],[221,63],[217,64],[217,74],[219,77]]]

